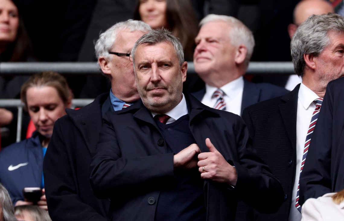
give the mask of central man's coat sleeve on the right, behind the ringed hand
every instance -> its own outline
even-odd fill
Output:
[[[235,188],[239,198],[258,212],[276,212],[284,200],[282,185],[252,147],[247,127],[239,116],[235,138],[238,162],[233,163],[238,174]]]

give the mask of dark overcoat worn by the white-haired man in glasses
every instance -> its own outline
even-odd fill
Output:
[[[67,109],[67,115],[55,122],[43,163],[52,220],[107,220],[109,200],[94,196],[88,168],[98,142],[102,107],[103,112],[111,111],[108,94],[79,110]]]

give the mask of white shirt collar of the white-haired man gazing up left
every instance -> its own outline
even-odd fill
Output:
[[[231,81],[220,89],[227,95],[229,98],[235,97],[237,93],[244,88],[244,77],[241,76],[234,81]],[[205,85],[206,96],[212,97],[217,87],[210,86],[208,84]]]

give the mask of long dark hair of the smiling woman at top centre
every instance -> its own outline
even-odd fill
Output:
[[[135,7],[135,20],[141,20],[139,7],[140,0],[137,1]],[[166,0],[166,18],[169,27],[165,28],[169,28],[180,39],[184,49],[185,60],[192,61],[198,24],[190,0]]]

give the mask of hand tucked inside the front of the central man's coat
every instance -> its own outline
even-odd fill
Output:
[[[197,155],[201,152],[197,144],[191,144],[189,147],[181,150],[173,156],[174,169],[191,169],[197,167]]]

